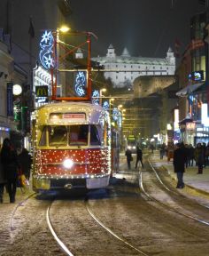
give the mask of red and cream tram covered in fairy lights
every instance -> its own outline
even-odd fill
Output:
[[[56,102],[35,111],[35,190],[104,188],[112,172],[108,112],[86,102]]]

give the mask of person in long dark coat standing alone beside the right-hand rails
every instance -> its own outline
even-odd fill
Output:
[[[176,188],[184,188],[183,172],[185,172],[186,154],[183,143],[177,143],[174,149],[174,172],[177,176]]]

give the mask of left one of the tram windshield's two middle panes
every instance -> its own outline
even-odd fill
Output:
[[[49,126],[49,145],[50,146],[66,146],[67,129],[66,126]]]

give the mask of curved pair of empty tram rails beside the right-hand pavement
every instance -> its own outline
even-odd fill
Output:
[[[153,165],[151,164],[151,162],[148,160],[148,163],[150,164],[151,166],[151,170],[152,172],[155,174],[157,180],[159,181],[159,184],[166,190],[168,191],[169,193],[171,193],[172,195],[174,196],[181,196],[184,200],[192,200],[190,198],[187,198],[186,196],[182,196],[182,194],[174,191],[173,189],[170,189],[166,186],[166,184],[163,182],[163,180],[160,179],[159,177],[159,174],[158,172],[155,170],[155,168],[153,167]],[[185,211],[184,212],[180,212],[179,209],[176,207],[174,208],[174,206],[170,206],[166,203],[163,203],[162,201],[160,201],[159,199],[157,199],[155,196],[151,196],[151,193],[148,192],[148,190],[145,190],[144,186],[143,186],[143,172],[139,172],[139,188],[141,188],[142,192],[143,192],[143,195],[146,196],[147,198],[149,198],[149,200],[151,200],[152,202],[155,202],[157,204],[160,204],[161,206],[163,206],[164,208],[168,209],[169,211],[172,211],[172,212],[176,212],[178,213],[179,215],[182,215],[183,217],[186,217],[190,220],[195,220],[201,224],[204,224],[206,226],[209,226],[209,220],[203,220],[201,218],[197,218],[195,217],[194,215],[192,214],[189,214],[189,213],[186,213]],[[176,204],[176,203],[175,203]],[[203,207],[203,209],[208,209],[207,207],[205,207],[205,205],[203,204],[197,204],[197,202],[195,202],[196,205],[200,206],[200,207]],[[183,204],[184,207],[186,206],[186,204]]]

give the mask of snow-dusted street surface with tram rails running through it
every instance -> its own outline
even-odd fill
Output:
[[[128,171],[120,155],[120,172],[107,189],[65,195],[19,189],[16,204],[4,195],[0,255],[67,255],[51,235],[47,211],[72,255],[208,255],[209,196],[177,191],[168,172],[155,169],[163,186],[146,156],[143,170],[134,168],[135,156],[131,164]]]

